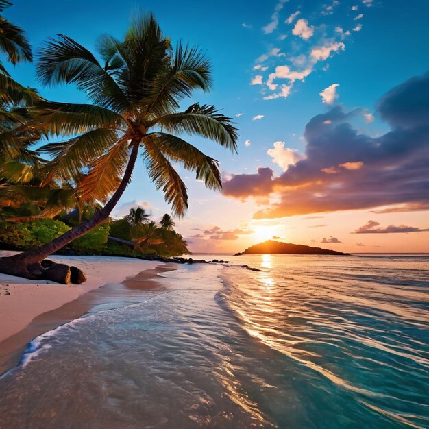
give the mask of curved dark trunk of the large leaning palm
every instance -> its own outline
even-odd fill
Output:
[[[20,277],[29,279],[40,278],[39,272],[42,271],[40,262],[42,262],[42,260],[106,221],[114,209],[114,206],[117,205],[117,202],[122,197],[125,188],[130,183],[132,171],[136,164],[139,144],[140,142],[138,141],[132,143],[130,160],[128,160],[127,168],[125,169],[121,184],[119,184],[117,190],[112,195],[112,198],[110,198],[106,203],[106,206],[95,213],[93,217],[90,217],[90,219],[80,223],[75,226],[75,228],[72,228],[61,236],[54,238],[52,241],[49,241],[49,243],[36,247],[35,249],[27,250],[27,252],[23,252],[21,254],[8,256],[7,258],[0,258],[0,272],[19,275]]]

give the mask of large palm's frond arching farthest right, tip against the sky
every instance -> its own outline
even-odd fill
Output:
[[[166,114],[149,123],[149,127],[154,125],[175,134],[197,134],[210,138],[231,151],[237,151],[238,130],[232,125],[231,118],[220,114],[214,106],[195,103],[184,112]]]

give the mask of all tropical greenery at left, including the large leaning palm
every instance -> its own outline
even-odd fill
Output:
[[[0,0],[0,11],[8,4]],[[14,29],[0,32],[0,49],[8,60],[32,60],[21,29],[5,20],[1,23]],[[1,258],[0,271],[37,278],[42,260],[67,245],[82,250],[90,242],[85,234],[95,231],[101,240],[122,229],[134,243],[132,252],[184,252],[186,244],[174,232],[169,215],[158,226],[138,208],[120,221],[112,221],[110,214],[139,155],[175,217],[182,217],[188,208],[186,185],[175,163],[193,171],[208,188],[221,188],[219,162],[185,136],[202,136],[236,151],[237,130],[214,106],[193,103],[181,108],[195,90],[210,90],[208,59],[182,42],[173,47],[154,16],[143,14],[136,15],[122,40],[101,36],[96,54],[58,34],[45,42],[36,58],[42,84],[74,84],[90,102],[47,101],[19,84],[1,86],[0,221],[8,231],[5,223],[23,223],[14,228],[26,243],[23,248],[31,248]],[[3,67],[1,73],[5,82],[12,82]],[[40,138],[48,141],[34,151],[32,145]],[[62,222],[58,217],[64,211],[65,216],[77,212],[78,221]],[[57,225],[51,232],[58,236],[40,232],[49,229],[49,221]],[[174,237],[181,244],[169,249],[167,243]]]

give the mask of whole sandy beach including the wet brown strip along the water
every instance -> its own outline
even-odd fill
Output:
[[[0,256],[10,253],[0,252]],[[156,282],[151,282],[151,278],[160,271],[173,269],[162,262],[110,256],[50,259],[81,268],[88,280],[84,284],[64,285],[0,273],[0,373],[16,365],[29,341],[80,317],[100,295],[119,293],[121,288],[153,287]]]

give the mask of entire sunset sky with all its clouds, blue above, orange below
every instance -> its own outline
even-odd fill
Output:
[[[6,18],[34,50],[62,33],[95,51],[121,38],[133,12],[210,58],[214,104],[240,130],[238,154],[190,137],[220,162],[223,191],[177,166],[190,196],[177,230],[192,252],[240,252],[269,238],[341,252],[429,252],[429,1],[264,0],[14,2]],[[44,88],[34,65],[9,67],[53,101],[86,102],[73,86]],[[143,163],[114,216],[169,207]]]

